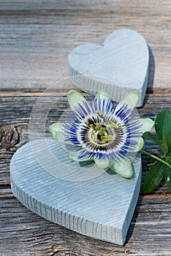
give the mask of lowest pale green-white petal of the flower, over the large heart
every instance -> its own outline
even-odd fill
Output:
[[[114,164],[110,166],[110,169],[124,178],[131,178],[133,174],[132,163],[128,158],[114,162]]]

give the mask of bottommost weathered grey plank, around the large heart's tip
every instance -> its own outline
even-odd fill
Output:
[[[4,189],[3,189],[4,190]],[[3,191],[0,193],[3,195]],[[0,200],[2,255],[170,255],[170,203],[168,197],[140,198],[125,246],[87,238],[33,214],[6,189]],[[12,236],[13,235],[13,236]],[[10,239],[9,239],[10,238]]]

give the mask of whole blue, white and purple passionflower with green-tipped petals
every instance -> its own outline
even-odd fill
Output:
[[[94,160],[124,178],[132,177],[132,154],[143,146],[142,134],[153,127],[150,118],[139,118],[134,107],[138,94],[130,92],[121,102],[112,102],[106,91],[96,94],[92,103],[79,92],[69,91],[68,102],[74,117],[49,127],[53,139],[71,145],[72,161]]]

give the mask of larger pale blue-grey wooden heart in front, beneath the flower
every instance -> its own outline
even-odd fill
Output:
[[[12,192],[51,222],[122,245],[140,192],[140,155],[133,169],[133,178],[122,178],[94,162],[71,163],[55,140],[33,140],[12,157]]]

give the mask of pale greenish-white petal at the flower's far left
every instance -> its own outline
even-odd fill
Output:
[[[51,124],[49,127],[49,131],[53,135],[54,140],[56,140],[59,143],[66,143],[72,145],[70,141],[66,141],[63,129],[64,127],[62,123]]]

